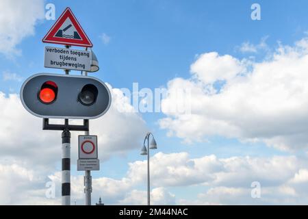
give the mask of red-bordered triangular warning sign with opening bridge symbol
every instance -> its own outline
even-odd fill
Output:
[[[42,42],[72,45],[78,47],[93,47],[92,42],[79,25],[70,8],[66,8],[55,24],[48,31]]]

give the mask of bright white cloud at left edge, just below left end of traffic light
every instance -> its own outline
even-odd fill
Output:
[[[60,133],[42,131],[42,119],[29,114],[17,94],[0,92],[0,105],[1,157],[46,168],[60,160]]]

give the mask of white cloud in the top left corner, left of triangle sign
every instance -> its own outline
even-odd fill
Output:
[[[44,18],[44,1],[1,0],[0,8],[0,51],[7,57],[19,55],[16,45],[34,35],[34,26]]]

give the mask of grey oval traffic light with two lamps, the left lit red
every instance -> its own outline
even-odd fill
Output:
[[[25,109],[41,118],[98,118],[111,103],[110,90],[95,77],[41,73],[21,87]]]

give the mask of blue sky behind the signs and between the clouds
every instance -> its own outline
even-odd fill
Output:
[[[91,75],[110,83],[112,88],[129,88],[129,90],[132,90],[134,82],[139,83],[139,88],[154,90],[166,88],[168,81],[177,77],[189,81],[193,78],[193,73],[190,73],[191,65],[205,53],[217,52],[221,56],[231,55],[237,60],[252,59],[256,64],[266,62],[279,47],[279,43],[294,47],[296,42],[307,36],[305,32],[308,30],[308,2],[300,0],[296,3],[287,0],[42,2],[43,6],[47,3],[55,5],[56,18],[66,7],[70,7],[73,11],[94,44],[92,49],[99,59],[101,69],[98,73]],[[261,21],[251,19],[251,5],[255,2],[261,5]],[[62,73],[59,69],[44,68],[43,64],[44,47],[51,44],[42,43],[42,38],[54,22],[38,18],[34,24],[34,34],[21,37],[20,42],[14,45],[13,50],[21,51],[20,55],[14,55],[12,50],[0,53],[2,76],[0,91],[7,97],[10,93],[18,93],[23,80],[34,73]],[[109,42],[103,42],[103,34],[110,38]],[[258,47],[262,39],[265,46]],[[257,48],[257,52],[241,51],[244,43]],[[60,45],[51,46],[61,47]],[[74,47],[74,49],[81,48]],[[14,79],[5,79],[5,74],[11,77],[13,75]],[[183,141],[184,137],[181,138],[177,134],[167,136],[168,129],[162,129],[159,125],[159,120],[168,117],[166,114],[140,113],[138,115],[145,121],[146,129],[151,130],[157,140],[158,149],[151,151],[152,154],[185,152],[189,154],[190,159],[208,155],[216,155],[218,159],[245,156],[272,159],[275,156],[301,157],[306,151],[306,147],[300,147],[299,150],[292,152],[280,150],[278,146],[273,146],[274,144],[271,145],[264,140],[266,136],[253,136],[253,134],[229,136],[215,133],[215,131],[213,135],[205,133],[202,136],[206,139],[204,141],[186,144]],[[241,116],[238,120],[241,120]],[[104,118],[101,118],[101,121],[103,122]],[[132,126],[130,129],[135,127]],[[289,129],[292,128],[289,127]],[[44,132],[40,133],[44,134]],[[119,130],[118,135],[120,134]],[[259,140],[246,141],[253,138]],[[128,139],[127,142],[130,144],[129,141]],[[140,145],[131,146],[121,155],[111,153],[108,159],[101,163],[101,171],[92,172],[94,178],[108,177],[120,180],[129,170],[128,163],[144,160],[145,157],[139,155],[143,139],[135,139],[135,141]],[[60,171],[60,159],[53,165],[57,171]],[[299,168],[303,166],[299,166],[296,171]],[[72,169],[76,169],[74,163]],[[83,172],[72,172],[73,175],[83,175]],[[52,174],[52,171],[48,174]],[[296,172],[292,174],[295,175]],[[198,194],[212,188],[211,185],[205,184],[166,185],[164,188],[175,194],[175,203],[188,203],[179,202],[179,200],[194,201]],[[132,188],[145,191],[146,181],[133,185]],[[246,188],[250,188],[249,183]],[[97,195],[94,197],[97,198]],[[101,195],[104,196],[104,194]],[[79,202],[82,203],[82,200]],[[108,203],[108,200],[105,202]],[[206,203],[208,202],[210,203],[209,200]],[[110,203],[116,203],[116,201]]]

